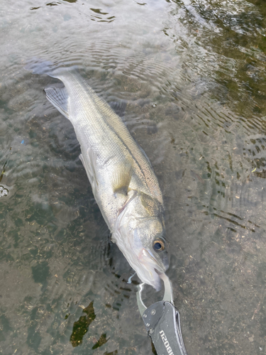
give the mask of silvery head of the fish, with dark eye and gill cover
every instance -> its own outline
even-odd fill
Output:
[[[148,202],[148,203],[147,203]],[[169,267],[165,224],[157,200],[137,195],[118,217],[113,239],[143,283],[160,290],[160,273]]]

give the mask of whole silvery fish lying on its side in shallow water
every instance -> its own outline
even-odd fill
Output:
[[[31,68],[27,68],[31,69]],[[152,165],[126,125],[77,70],[55,68],[48,74],[65,87],[45,89],[49,102],[69,119],[80,144],[79,155],[101,214],[126,260],[143,283],[160,290],[169,267],[162,192]]]

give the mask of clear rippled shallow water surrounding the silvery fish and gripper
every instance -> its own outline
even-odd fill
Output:
[[[77,67],[150,158],[188,354],[266,354],[265,21],[262,0],[3,1],[1,354],[153,354],[33,58]]]

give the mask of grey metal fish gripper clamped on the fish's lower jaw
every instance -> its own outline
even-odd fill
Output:
[[[165,273],[160,274],[160,278],[165,284],[165,294],[162,301],[155,302],[150,307],[146,307],[141,298],[145,283],[138,285],[137,302],[140,315],[157,355],[187,355],[179,312],[174,307],[172,283]]]

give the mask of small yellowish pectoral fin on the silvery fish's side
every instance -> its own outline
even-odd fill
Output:
[[[126,160],[125,163],[118,165],[116,174],[113,175],[113,192],[115,194],[128,195],[128,187],[131,182],[133,165]]]

